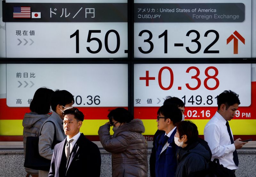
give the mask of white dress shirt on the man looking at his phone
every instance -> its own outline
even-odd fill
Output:
[[[236,148],[234,144],[231,144],[226,122],[227,121],[216,112],[204,127],[204,140],[207,141],[212,151],[212,160],[215,158],[219,159],[220,164],[230,170],[235,170],[237,166],[233,160],[233,152]],[[233,137],[231,128],[230,131]]]

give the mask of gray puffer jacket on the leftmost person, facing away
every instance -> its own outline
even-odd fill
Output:
[[[50,117],[49,114],[37,114],[36,112],[26,113],[24,115],[22,125],[23,125],[23,146],[24,155],[26,156],[26,142],[27,137],[39,137],[39,131],[44,123],[44,121]],[[38,170],[26,168],[27,173],[37,174]]]

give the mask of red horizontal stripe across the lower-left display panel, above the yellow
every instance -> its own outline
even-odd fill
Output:
[[[85,119],[108,119],[108,110],[117,107],[78,107],[84,113]],[[127,107],[124,107],[128,109]],[[8,107],[6,98],[0,99],[0,120],[22,120],[24,114],[30,112],[28,107]]]

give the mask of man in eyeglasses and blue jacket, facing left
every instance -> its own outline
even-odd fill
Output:
[[[175,105],[163,105],[157,115],[157,128],[164,132],[156,137],[156,177],[174,177],[177,168],[175,124],[182,120],[182,113]]]

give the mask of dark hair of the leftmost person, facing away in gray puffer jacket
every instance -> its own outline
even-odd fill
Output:
[[[48,114],[51,105],[51,96],[53,90],[49,88],[38,88],[30,103],[29,109],[37,114]]]

